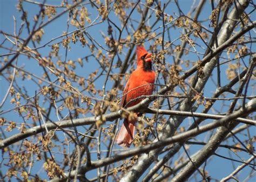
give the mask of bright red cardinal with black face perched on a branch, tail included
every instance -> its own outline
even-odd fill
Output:
[[[137,46],[137,69],[132,72],[123,92],[123,98],[121,101],[121,107],[125,107],[129,101],[136,99],[142,95],[151,95],[154,89],[154,78],[156,73],[152,70],[151,55],[143,46]],[[135,106],[143,99],[131,102],[129,106]],[[129,121],[126,117],[122,125],[116,141],[120,146],[130,147],[134,139],[135,123],[137,118],[133,121]]]

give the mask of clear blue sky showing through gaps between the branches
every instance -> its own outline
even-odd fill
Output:
[[[21,18],[20,18],[21,13],[19,13],[16,9],[17,2],[18,1],[15,1],[15,0],[1,0],[0,1],[0,17],[1,17],[1,19],[0,19],[0,30],[2,30],[4,32],[13,33],[14,32],[14,16],[17,19],[17,27],[21,26],[21,23],[22,23]],[[43,1],[38,1],[38,2],[43,2]],[[46,1],[46,3],[48,3],[48,4],[60,4],[60,2],[61,1],[53,1],[53,0]],[[185,14],[187,14],[188,11],[190,11],[190,7],[193,4],[193,1],[183,0],[183,1],[179,1],[179,2],[180,2],[180,7],[183,10],[183,12]],[[198,3],[198,1],[195,1],[195,2],[196,2],[195,4]],[[32,19],[32,17],[35,16],[36,13],[39,10],[38,5],[35,5],[35,4],[24,2],[23,5],[24,5],[24,9],[26,11],[28,11],[29,19]],[[91,20],[94,20],[97,17],[97,10],[91,8],[91,5],[86,5],[86,8],[87,8],[88,12],[90,13]],[[62,8],[59,8],[59,9],[57,9],[57,12],[59,13],[62,10],[63,10]],[[212,8],[211,8],[210,1],[207,1],[204,8],[203,8],[203,12],[199,16],[199,20],[207,20],[211,11],[212,11]],[[250,8],[248,8],[248,12],[249,11],[250,11]],[[179,16],[178,13],[177,13],[177,6],[174,4],[174,1],[171,1],[169,6],[167,6],[165,12],[168,13],[169,15],[172,15],[174,18]],[[151,12],[151,13],[153,13],[153,12]],[[139,16],[138,12],[134,11],[134,13],[132,15],[132,18],[134,20],[136,20],[137,18],[140,18],[138,16]],[[193,14],[192,14],[192,16],[193,16]],[[67,30],[67,26],[66,26],[67,17],[68,17],[68,14],[65,13],[62,17],[58,18],[53,23],[51,23],[50,25],[48,25],[44,28],[44,36],[43,36],[43,39],[42,39],[40,45],[44,45],[45,43],[48,43],[48,41],[50,41],[52,38],[60,36],[64,31]],[[252,18],[255,19],[255,17],[252,17]],[[114,13],[110,14],[110,19],[112,19],[115,23],[117,23],[118,26],[120,26],[120,27],[122,26],[120,24],[119,20],[114,15]],[[100,18],[97,20],[97,22],[99,22],[99,20],[100,20]],[[150,19],[149,21],[147,21],[145,24],[151,25],[154,22],[153,20],[154,20],[154,17],[152,19]],[[33,24],[33,23],[31,22],[31,24]],[[208,28],[209,22],[203,22],[202,24],[205,27]],[[159,26],[160,26],[160,23],[159,23]],[[158,26],[156,26],[156,27],[158,27]],[[212,27],[210,29],[212,30]],[[70,25],[68,31],[70,32],[72,30],[76,30],[76,28],[73,27],[72,25]],[[22,33],[21,37],[25,39],[26,37],[28,37],[28,34],[27,34],[26,30],[24,30],[23,32],[24,33]],[[98,43],[100,43],[103,47],[107,48],[107,46],[105,45],[105,42],[104,42],[104,38],[102,37],[102,34],[101,34],[101,33],[107,34],[107,24],[106,24],[106,22],[90,27],[89,29],[87,29],[87,32],[93,38],[95,38],[95,40],[98,41]],[[161,32],[161,29],[157,30],[157,32]],[[180,30],[179,29],[172,29],[171,30],[171,39],[174,40],[174,39],[178,38],[180,36],[181,32],[182,32],[181,29]],[[116,33],[116,35],[118,35],[117,32],[114,32],[114,34],[115,33]],[[127,32],[124,32],[122,38],[126,38],[126,36],[127,36]],[[252,37],[255,37],[254,32],[252,32]],[[3,37],[3,35],[1,35],[0,36],[1,43],[2,43],[3,40],[4,40],[4,37]],[[167,40],[167,38],[166,38],[166,40]],[[52,45],[53,43],[59,43],[60,41],[62,41],[62,38],[53,41],[49,45]],[[199,41],[197,41],[197,43],[200,46],[204,46],[204,48],[205,48],[205,45],[202,41],[199,40]],[[145,44],[146,48],[149,48],[150,44],[152,44],[152,41],[149,41]],[[180,44],[180,40],[177,40],[177,41],[174,42],[174,45],[179,45],[179,44]],[[38,50],[41,53],[42,57],[46,57],[48,55],[48,52],[51,50],[51,46],[49,46],[49,45],[46,45],[45,47],[40,48]],[[5,44],[5,46],[10,46],[10,44],[7,43],[7,44]],[[33,47],[31,43],[29,44],[29,46]],[[39,45],[37,45],[37,46],[39,46]],[[67,56],[68,60],[77,60],[78,58],[82,58],[86,55],[91,54],[89,48],[83,47],[79,42],[75,45],[71,44],[70,46],[71,46],[71,49],[70,49],[70,51],[68,51],[68,56]],[[204,53],[204,48],[200,48],[200,46],[196,47],[197,51],[199,53]],[[123,54],[120,54],[121,59],[124,59],[124,57],[126,55],[125,51],[126,51],[126,49],[124,49]],[[252,51],[255,52],[255,46],[253,47]],[[0,55],[6,54],[6,53],[8,53],[8,51],[0,48]],[[106,54],[106,51],[103,50],[103,54]],[[60,59],[63,60],[65,58],[65,49],[62,46],[60,46],[59,55],[60,55]],[[226,57],[226,53],[223,53],[223,56]],[[12,56],[10,56],[10,58],[11,57]],[[203,55],[199,54],[199,57],[203,58]],[[3,57],[0,57],[0,59],[2,60]],[[172,59],[171,56],[167,57],[166,60],[170,64],[173,64],[173,59]],[[198,58],[195,54],[189,53],[189,54],[187,54],[183,57],[183,60],[197,61]],[[223,59],[220,59],[220,61],[223,61]],[[116,62],[117,62],[117,59],[115,59],[114,64],[116,64]],[[245,59],[245,63],[248,66],[248,59],[247,58]],[[83,68],[81,68],[77,65],[77,67],[79,67],[79,68],[76,69],[76,73],[78,75],[85,76],[85,77],[87,77],[91,73],[91,71],[94,71],[95,69],[97,69],[99,67],[97,61],[95,59],[92,59],[92,58],[90,58],[87,62],[84,62],[84,65],[85,66]],[[18,58],[18,66],[23,67],[26,71],[29,71],[33,74],[38,75],[38,76],[43,75],[43,69],[41,68],[41,66],[38,65],[38,62],[36,62],[33,59],[28,59],[25,56],[21,56],[21,57]],[[131,66],[133,66],[133,65],[131,65]],[[183,68],[187,69],[184,66],[183,66]],[[228,82],[228,80],[226,79],[227,75],[225,73],[226,68],[227,68],[227,65],[221,66],[221,85],[225,85]],[[113,73],[118,73],[118,72],[119,72],[119,68],[113,69]],[[214,70],[213,71],[213,76],[212,76],[213,80],[217,80],[216,79],[217,78],[216,73],[217,73],[217,70]],[[181,74],[182,74],[182,72],[181,72]],[[50,75],[50,76],[51,76],[52,80],[56,79],[55,75]],[[6,89],[9,87],[9,83],[6,82],[2,77],[0,79],[1,79],[0,80],[0,83],[1,83],[1,85],[0,85],[0,101],[2,101],[3,96],[6,93]],[[101,76],[97,80],[97,82],[96,82],[96,88],[97,89],[102,89],[102,84],[103,84],[104,80],[105,80],[105,76]],[[33,83],[32,81],[28,81],[28,80],[22,81],[21,78],[17,78],[17,81],[20,81],[21,85],[26,88],[26,90],[28,91],[28,95],[33,96],[35,94],[35,90],[37,90],[37,92],[39,92],[37,85],[35,83]],[[251,80],[251,83],[253,83],[253,81],[254,80]],[[113,82],[110,81],[110,80],[107,82],[107,90],[112,88],[112,84],[113,84]],[[43,83],[43,85],[46,85],[46,83],[45,84]],[[238,86],[235,86],[234,88],[237,88],[237,87]],[[214,90],[215,90],[215,86],[213,84],[213,81],[211,79],[209,79],[209,81],[207,82],[207,85],[205,87],[205,90],[204,90],[205,96],[206,97],[211,97]],[[253,89],[249,88],[247,94],[248,95],[253,95],[253,93],[255,95],[255,92],[253,91]],[[121,94],[121,93],[119,93],[119,94]],[[227,96],[231,97],[232,95],[227,95]],[[8,99],[6,100],[6,103],[4,104],[4,107],[1,108],[1,110],[8,110],[8,109],[11,109],[11,108],[14,107],[10,103],[10,99],[11,99],[11,97],[9,96]],[[42,104],[42,106],[48,107],[48,105],[45,104],[43,102],[43,100],[41,100],[40,103]],[[216,104],[216,107],[214,107],[214,108],[224,107],[224,109],[223,109],[224,111],[225,111],[225,108],[226,109],[228,108],[228,105],[223,106],[223,103],[221,101],[218,101],[215,104]],[[199,111],[202,108],[203,107],[200,107]],[[211,110],[211,113],[215,113],[215,111]],[[15,113],[14,111],[11,111],[9,113],[4,114],[4,117],[6,117],[9,121],[16,121],[16,122],[22,123],[18,113]],[[58,120],[58,118],[56,117],[56,115],[51,114],[51,120],[56,121],[56,120]],[[212,120],[207,120],[206,122],[211,122],[211,121]],[[192,122],[191,118],[188,118],[188,119],[184,120],[183,125],[187,127],[187,123],[189,123],[189,122]],[[206,122],[204,122],[204,124]],[[107,124],[110,124],[110,122],[107,122]],[[181,125],[181,126],[183,126],[183,125]],[[82,128],[80,128],[80,129],[81,129],[81,131],[84,130]],[[17,132],[17,130],[14,130],[14,132],[10,132],[6,135],[10,136],[15,132]],[[250,130],[250,132],[252,132],[251,133],[252,136],[255,135],[254,130]],[[199,138],[202,139],[203,141],[207,142],[207,139],[209,137],[210,136],[207,136],[207,135],[201,135]],[[239,136],[239,137],[241,137],[242,140],[246,139],[246,137],[244,137],[244,136]],[[235,142],[237,142],[237,141],[235,141]],[[199,146],[199,145],[193,146],[191,148],[191,151],[190,151],[191,153],[190,154],[192,155],[194,151],[197,151],[200,148],[201,148],[201,146]],[[221,155],[224,155],[224,156],[230,155],[230,152],[228,152],[227,149],[220,149],[220,150],[217,151],[217,153],[221,154]],[[239,155],[244,157],[244,159],[248,158],[248,155],[246,155],[245,153],[239,153]],[[1,157],[0,157],[0,159],[1,159]],[[93,159],[96,159],[96,153],[94,155],[92,155],[92,157],[93,157]],[[5,160],[5,162],[6,162],[6,160]],[[211,165],[208,165],[206,167],[206,169],[210,172],[209,175],[212,176],[213,178],[221,179],[222,177],[225,177],[227,174],[229,174],[230,172],[233,171],[232,163],[229,162],[228,160],[221,159],[221,158],[218,158],[218,157],[214,156],[214,159],[210,159],[210,163],[211,163]],[[240,164],[234,162],[234,165],[238,166]],[[35,166],[33,166],[33,170],[38,171],[38,173],[41,173],[41,170],[40,170],[41,167],[42,167],[42,162],[36,163]],[[6,167],[2,164],[1,168],[3,170],[2,172],[4,173],[6,171]],[[242,172],[241,179],[244,179],[250,170],[251,170],[250,167],[247,167],[244,170],[244,172]],[[95,174],[96,174],[96,171],[91,171],[87,174],[87,177],[89,177],[89,178],[95,177]],[[43,177],[43,178],[46,177],[45,175],[46,174],[44,172],[42,174],[40,174],[40,176]],[[200,178],[198,178],[198,180],[199,179]]]

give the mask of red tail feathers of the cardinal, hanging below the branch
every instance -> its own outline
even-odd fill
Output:
[[[129,123],[126,119],[117,135],[117,144],[124,147],[130,147],[134,139],[135,125],[134,123]]]

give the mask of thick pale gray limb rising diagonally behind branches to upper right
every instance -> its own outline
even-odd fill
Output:
[[[230,38],[235,24],[237,23],[237,20],[239,19],[239,17],[241,16],[242,12],[244,12],[244,9],[248,6],[248,1],[245,0],[241,0],[239,1],[239,3],[237,3],[237,7],[238,7],[238,11],[237,9],[234,7],[233,10],[230,12],[230,14],[228,15],[227,20],[225,21],[225,23],[223,24],[223,27],[220,30],[220,33],[218,35],[218,45],[223,44],[228,38]],[[214,45],[214,48],[216,47],[216,45]],[[213,48],[213,49],[214,49]],[[195,89],[197,90],[197,92],[201,92],[201,90],[203,90],[209,76],[211,75],[215,65],[217,64],[217,58],[218,56],[214,57],[213,59],[211,59],[210,62],[207,62],[204,66],[204,73],[205,76],[204,78],[198,78],[198,81],[196,83]],[[192,92],[190,92],[191,95],[193,94]],[[185,99],[178,107],[178,110],[180,111],[190,111],[191,108],[191,101],[189,99]],[[181,122],[184,120],[184,117],[182,116],[174,116],[172,117],[167,123],[166,123],[166,127],[163,129],[162,132],[160,132],[159,134],[159,138],[161,139],[165,139],[168,137],[171,137],[174,135],[174,132],[177,130],[177,128],[179,127],[179,125],[181,124]],[[158,139],[154,139],[153,142],[158,142]],[[142,174],[149,168],[149,166],[156,161],[156,159],[158,158],[159,153],[163,150],[162,148],[153,150],[149,153],[145,153],[143,155],[140,155],[137,163],[134,164],[134,166],[131,168],[131,170],[129,172],[127,172],[125,174],[125,176],[120,180],[120,181],[137,181]]]

